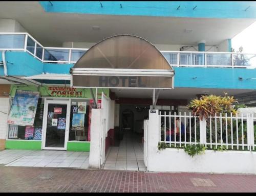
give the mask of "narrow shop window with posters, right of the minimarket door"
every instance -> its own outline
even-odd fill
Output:
[[[88,141],[89,100],[71,100],[69,141]]]

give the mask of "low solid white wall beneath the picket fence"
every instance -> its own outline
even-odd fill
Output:
[[[151,154],[150,171],[256,174],[256,153],[206,150],[190,157],[183,149],[164,149]]]

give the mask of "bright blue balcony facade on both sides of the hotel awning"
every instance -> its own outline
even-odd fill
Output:
[[[0,60],[2,56],[0,57]],[[69,74],[74,64],[42,63],[27,52],[7,52],[8,74],[12,76],[32,76],[42,72],[54,74]],[[229,88],[256,89],[256,69],[247,68],[211,68],[211,67],[174,67],[175,88]],[[0,75],[4,75],[3,66]],[[239,80],[239,78],[241,78]],[[46,81],[45,81],[46,82]],[[64,83],[63,81],[48,81],[46,83]],[[67,82],[69,84],[69,82]]]

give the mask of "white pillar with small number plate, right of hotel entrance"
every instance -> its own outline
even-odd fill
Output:
[[[158,110],[149,110],[148,115],[148,132],[147,132],[147,146],[148,146],[148,156],[147,156],[147,170],[151,170],[151,160],[154,159],[153,156],[158,151],[158,142],[160,141],[160,124],[159,124],[159,114]]]

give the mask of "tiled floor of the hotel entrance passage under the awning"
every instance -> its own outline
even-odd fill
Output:
[[[142,138],[131,132],[124,133],[120,145],[110,147],[103,169],[146,171],[143,161]]]

